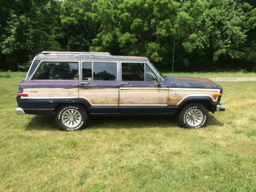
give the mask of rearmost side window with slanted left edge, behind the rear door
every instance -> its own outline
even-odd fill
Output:
[[[42,63],[32,80],[78,80],[78,62]]]

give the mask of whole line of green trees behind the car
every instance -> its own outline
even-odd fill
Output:
[[[0,0],[0,70],[42,51],[148,57],[160,70],[256,71],[255,0]]]

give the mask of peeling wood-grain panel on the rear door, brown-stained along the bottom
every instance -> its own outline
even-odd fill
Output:
[[[93,106],[118,106],[118,88],[79,88],[79,98],[90,102]]]

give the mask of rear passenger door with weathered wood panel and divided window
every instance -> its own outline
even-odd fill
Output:
[[[90,113],[118,113],[118,62],[81,61],[79,99],[90,104]]]

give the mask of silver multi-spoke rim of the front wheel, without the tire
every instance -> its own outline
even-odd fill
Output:
[[[190,126],[198,126],[202,123],[204,119],[202,111],[199,109],[191,109],[186,114],[186,122]]]

